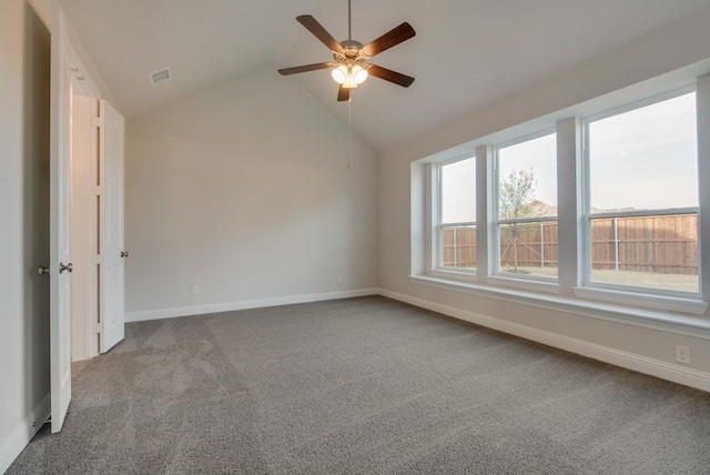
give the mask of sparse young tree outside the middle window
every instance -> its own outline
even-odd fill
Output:
[[[535,180],[532,169],[511,170],[500,182],[500,190],[498,191],[498,214],[500,220],[519,220],[537,215],[539,210],[536,208],[538,203],[535,199],[536,186],[537,180]],[[513,244],[514,272],[518,272],[518,226],[519,223],[510,223],[505,228],[505,231],[509,234],[508,245]]]

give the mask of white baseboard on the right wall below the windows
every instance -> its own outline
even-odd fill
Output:
[[[422,309],[427,309],[454,319],[475,323],[488,329],[498,330],[504,333],[520,336],[526,340],[542,343],[548,346],[565,350],[616,366],[632,370],[639,373],[660,377],[662,380],[672,381],[686,386],[694,387],[701,391],[710,392],[710,374],[701,371],[674,365],[660,360],[653,360],[598,345],[596,343],[586,342],[584,340],[572,338],[557,333],[538,330],[531,326],[521,325],[519,323],[507,322],[505,320],[495,319],[488,315],[470,312],[467,310],[456,309],[440,303],[432,302],[424,299],[417,299],[412,295],[400,294],[382,289],[379,294],[388,299],[405,302]]]

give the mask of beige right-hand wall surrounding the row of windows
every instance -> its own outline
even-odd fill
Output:
[[[595,357],[646,371],[658,370],[667,377],[678,373],[677,381],[690,375],[710,390],[710,331],[708,317],[701,317],[702,330],[682,325],[663,330],[611,321],[605,312],[574,312],[564,306],[535,306],[514,303],[505,297],[474,295],[410,282],[413,223],[417,231],[422,209],[412,210],[417,194],[412,162],[508,128],[545,118],[555,123],[568,117],[565,111],[594,98],[610,94],[618,100],[629,94],[625,88],[637,85],[633,94],[643,97],[662,84],[678,87],[684,79],[708,71],[710,57],[710,9],[671,23],[661,30],[622,44],[576,68],[557,74],[527,90],[505,98],[483,110],[452,121],[428,133],[419,134],[383,154],[379,162],[379,285],[396,299],[505,331],[517,332],[548,344],[587,352]],[[656,78],[653,81],[647,81]],[[616,98],[616,99],[615,99]],[[419,178],[419,180],[422,180]],[[423,208],[422,203],[417,206]],[[560,240],[565,236],[560,235]],[[416,257],[416,256],[415,256]],[[415,263],[416,265],[419,265]],[[590,316],[594,314],[595,316]],[[659,327],[660,326],[660,327]],[[674,362],[674,345],[691,347],[692,364]]]

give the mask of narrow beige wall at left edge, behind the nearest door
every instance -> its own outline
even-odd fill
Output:
[[[50,33],[23,0],[0,14],[0,471],[49,393]],[[14,445],[13,445],[14,444]],[[19,447],[21,448],[21,446]]]

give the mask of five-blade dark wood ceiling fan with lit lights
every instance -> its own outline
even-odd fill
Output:
[[[339,84],[337,91],[338,101],[351,99],[351,89],[362,84],[368,74],[384,79],[397,85],[408,88],[414,82],[414,78],[399,72],[383,68],[377,64],[366,62],[375,54],[388,50],[403,41],[414,37],[416,32],[407,22],[394,28],[382,37],[363,46],[359,41],[352,39],[351,0],[347,1],[347,40],[337,41],[310,14],[296,17],[298,23],[313,33],[323,44],[333,52],[334,61],[320,62],[315,64],[300,65],[295,68],[280,69],[283,75],[296,74],[300,72],[315,71],[332,68],[331,74],[335,82]]]

